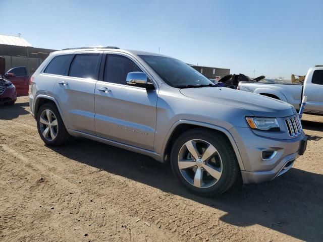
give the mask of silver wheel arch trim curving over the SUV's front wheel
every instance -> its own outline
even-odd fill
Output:
[[[224,137],[226,137],[228,139],[228,141],[230,142],[230,144],[236,154],[240,169],[245,170],[238,146],[228,130],[226,130],[220,126],[211,125],[211,124],[207,124],[207,123],[203,123],[203,122],[197,122],[197,121],[193,121],[193,120],[179,120],[178,122],[176,122],[172,126],[171,130],[169,131],[169,133],[165,139],[165,142],[164,142],[164,145],[162,148],[161,158],[162,158],[163,162],[169,161],[171,148],[172,148],[172,145],[174,144],[176,138],[180,134],[182,134],[183,132],[191,130],[191,129],[195,129],[195,128],[209,129],[213,132],[218,132],[220,135],[223,135]]]

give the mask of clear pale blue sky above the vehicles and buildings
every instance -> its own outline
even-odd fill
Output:
[[[323,65],[323,1],[0,0],[0,34],[34,47],[114,45],[253,77]]]

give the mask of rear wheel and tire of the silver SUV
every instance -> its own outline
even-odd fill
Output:
[[[48,122],[48,117],[51,122]],[[39,136],[46,145],[60,146],[70,141],[71,136],[67,132],[60,112],[55,104],[43,104],[37,112],[36,122]]]

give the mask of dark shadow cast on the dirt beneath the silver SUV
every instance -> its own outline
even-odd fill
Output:
[[[49,148],[78,162],[225,211],[220,219],[226,223],[243,227],[259,224],[301,240],[323,240],[321,174],[292,168],[268,183],[236,184],[219,197],[203,198],[188,193],[174,178],[169,164],[144,155],[83,139]]]

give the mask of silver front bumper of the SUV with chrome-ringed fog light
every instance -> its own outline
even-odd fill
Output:
[[[233,128],[230,132],[237,143],[245,167],[245,170],[241,171],[245,184],[261,183],[282,175],[306,149],[304,132],[296,138],[286,140],[259,136],[249,128]],[[300,152],[302,148],[303,151]],[[265,150],[275,151],[276,155],[270,159],[263,159],[262,151]]]

